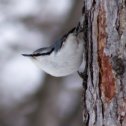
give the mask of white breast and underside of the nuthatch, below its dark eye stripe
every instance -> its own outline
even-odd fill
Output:
[[[52,76],[66,76],[76,72],[83,59],[83,39],[69,35],[62,48],[49,56],[34,58],[34,62],[45,72]]]

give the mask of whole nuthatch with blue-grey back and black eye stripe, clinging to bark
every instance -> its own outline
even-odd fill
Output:
[[[83,31],[80,24],[49,47],[36,50],[30,57],[46,73],[60,77],[78,71],[84,51]]]

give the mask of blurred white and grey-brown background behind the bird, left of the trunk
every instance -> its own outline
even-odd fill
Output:
[[[0,126],[82,125],[82,80],[55,78],[22,53],[48,46],[80,19],[82,0],[0,0]]]

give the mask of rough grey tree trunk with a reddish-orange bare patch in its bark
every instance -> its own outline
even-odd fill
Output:
[[[84,126],[126,126],[126,0],[84,0]]]

